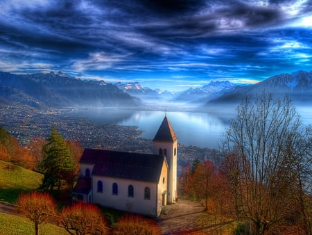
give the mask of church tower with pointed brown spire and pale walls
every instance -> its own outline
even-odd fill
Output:
[[[167,202],[173,204],[177,202],[177,137],[167,116],[153,139],[153,154],[166,156],[169,168]]]

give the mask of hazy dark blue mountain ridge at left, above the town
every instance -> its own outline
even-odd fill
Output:
[[[103,81],[76,79],[62,72],[10,74],[0,72],[3,104],[26,104],[36,108],[66,106],[138,106],[139,99]]]

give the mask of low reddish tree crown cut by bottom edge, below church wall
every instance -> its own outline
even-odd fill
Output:
[[[154,220],[138,215],[126,214],[121,217],[113,229],[114,235],[158,235],[160,229]]]

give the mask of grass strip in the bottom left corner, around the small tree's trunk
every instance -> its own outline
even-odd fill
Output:
[[[65,229],[45,222],[39,226],[39,233],[46,235],[68,234]],[[28,218],[0,213],[0,234],[35,234],[35,224]]]

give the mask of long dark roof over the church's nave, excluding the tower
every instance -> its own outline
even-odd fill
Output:
[[[80,163],[94,164],[92,175],[157,183],[164,156],[85,149]]]

